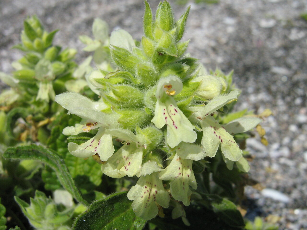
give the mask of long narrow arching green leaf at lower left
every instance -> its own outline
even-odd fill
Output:
[[[77,201],[84,205],[88,205],[87,201],[82,198],[80,191],[76,187],[64,160],[54,152],[42,146],[31,144],[28,146],[9,147],[4,152],[3,156],[10,159],[36,159],[42,161],[56,171],[56,175],[62,186],[70,192]]]

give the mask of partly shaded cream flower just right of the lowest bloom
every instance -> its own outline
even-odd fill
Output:
[[[175,154],[173,160],[159,173],[161,180],[172,180],[169,183],[172,196],[177,201],[182,201],[185,206],[190,205],[192,191],[197,188],[196,179],[192,170],[193,160],[182,159]]]

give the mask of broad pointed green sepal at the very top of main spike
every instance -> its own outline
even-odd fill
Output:
[[[166,32],[170,31],[174,27],[174,12],[171,5],[167,1],[158,6],[156,11],[155,23],[157,27],[165,30]]]

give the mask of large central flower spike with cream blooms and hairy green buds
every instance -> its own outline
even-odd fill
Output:
[[[65,135],[98,130],[83,144],[70,142],[70,153],[98,159],[107,176],[138,177],[127,197],[136,215],[150,220],[170,200],[190,204],[197,188],[193,162],[214,157],[219,148],[229,169],[235,162],[247,172],[233,135],[254,128],[261,119],[240,117],[221,125],[219,116],[239,91],[233,90],[231,76],[205,74],[196,59],[185,55],[189,41],[181,38],[189,8],[175,21],[169,3],[161,2],[153,21],[148,2],[145,6],[145,36],[139,45],[122,31],[114,31],[110,39],[101,33],[99,44],[92,41],[97,43],[92,50],[109,41],[115,63],[113,72],[99,69],[87,75],[99,100],[64,93],[55,101],[83,118],[65,128]],[[180,207],[174,216],[177,209],[185,218]]]

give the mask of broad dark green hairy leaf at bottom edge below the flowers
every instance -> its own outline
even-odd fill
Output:
[[[116,193],[93,202],[75,220],[73,230],[141,230],[146,221],[136,217],[126,192]]]

